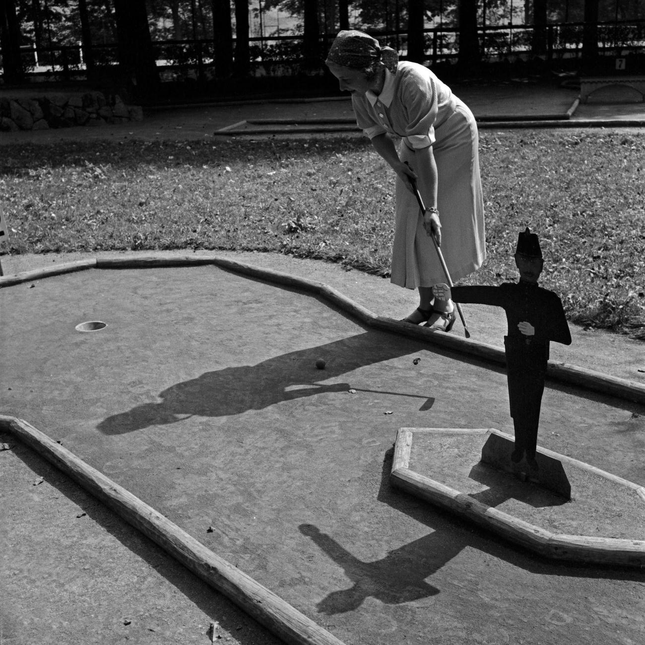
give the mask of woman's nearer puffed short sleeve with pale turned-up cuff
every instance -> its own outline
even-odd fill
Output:
[[[404,139],[411,148],[428,148],[435,143],[435,120],[439,110],[437,87],[430,77],[409,70],[401,79],[400,99],[408,113]]]

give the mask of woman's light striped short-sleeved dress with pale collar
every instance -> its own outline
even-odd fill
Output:
[[[428,68],[407,61],[399,63],[396,74],[386,70],[381,94],[353,96],[352,103],[370,139],[383,133],[402,137],[399,156],[413,168],[418,168],[416,150],[432,146],[441,251],[450,277],[456,282],[477,270],[486,258],[484,203],[477,124],[466,104]],[[396,191],[392,283],[414,289],[446,282],[415,196],[398,177]]]

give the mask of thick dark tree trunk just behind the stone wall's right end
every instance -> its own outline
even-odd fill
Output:
[[[121,74],[139,97],[153,95],[159,86],[145,0],[114,0],[117,52]]]

